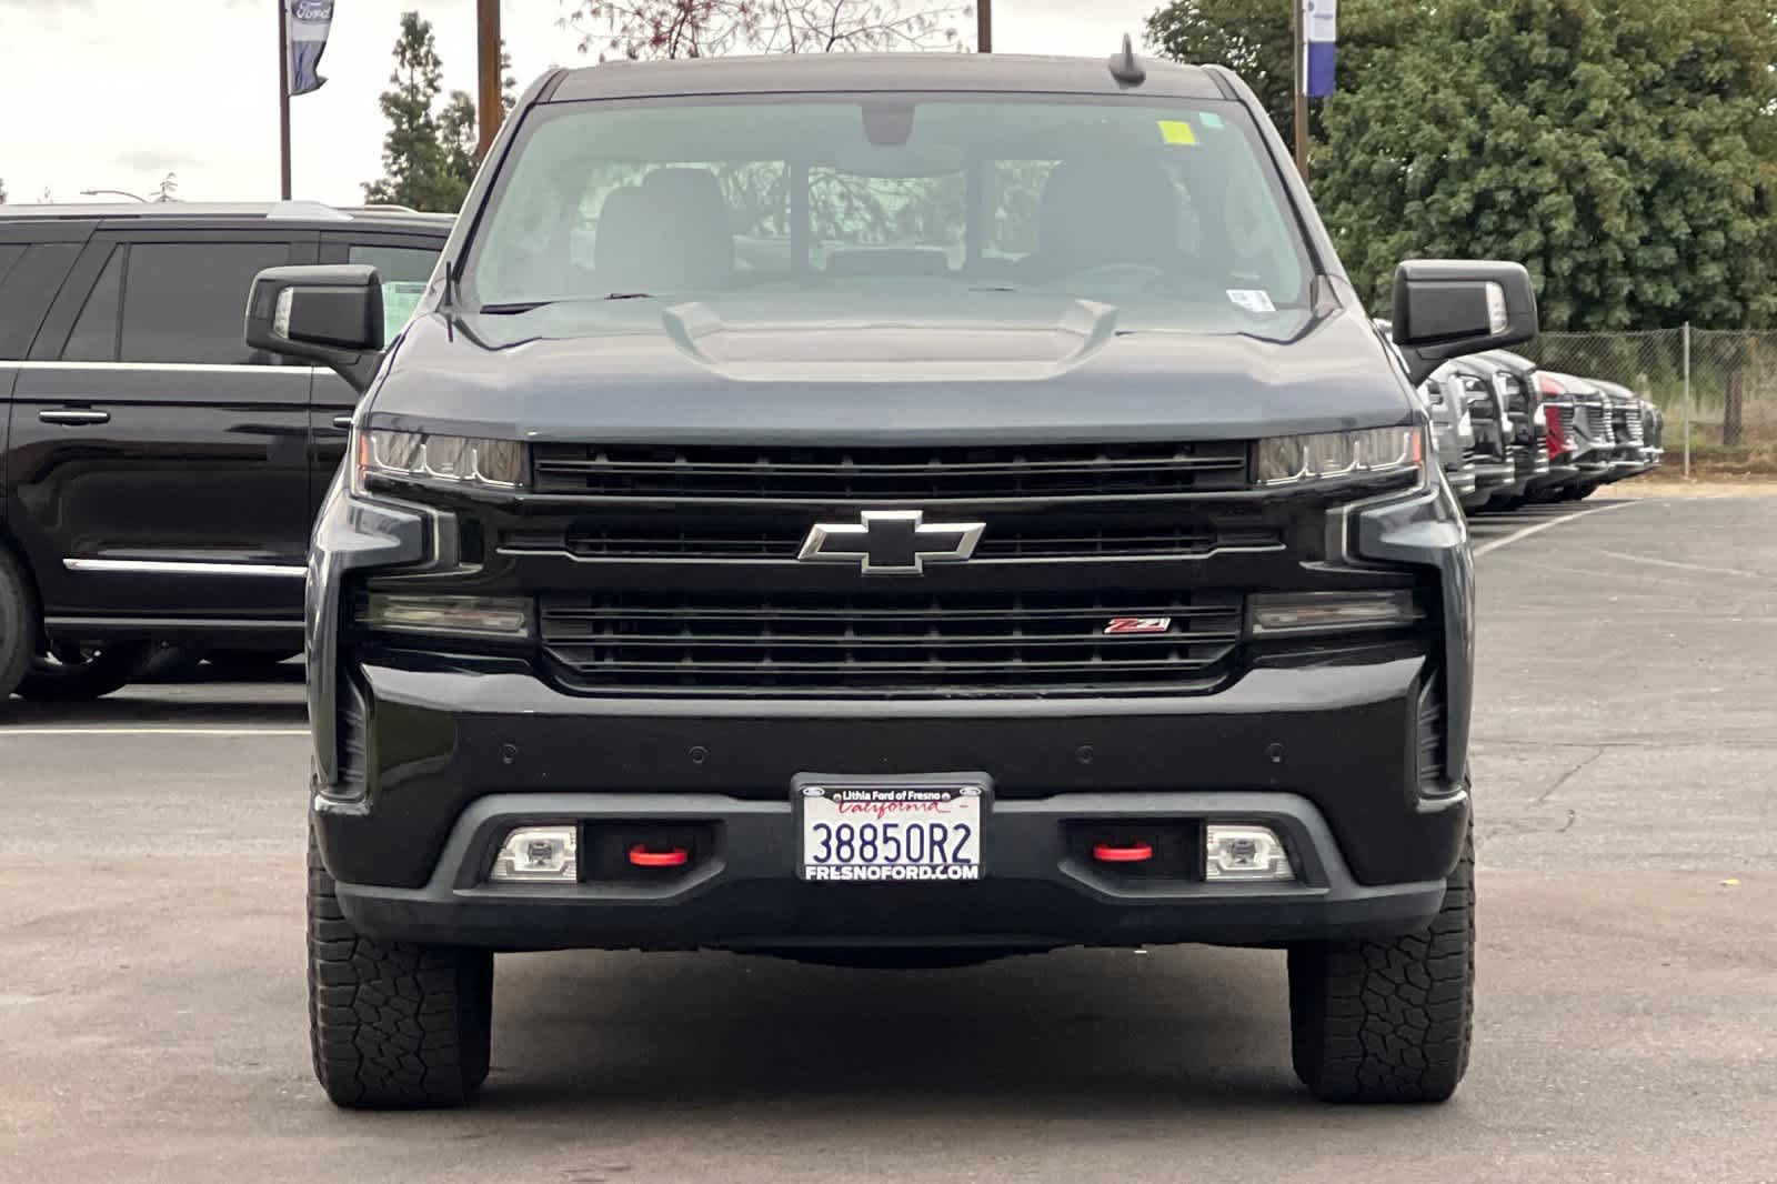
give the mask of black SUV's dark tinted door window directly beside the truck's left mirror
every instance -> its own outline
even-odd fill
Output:
[[[130,247],[121,361],[243,364],[252,277],[290,261],[281,242],[149,242]]]

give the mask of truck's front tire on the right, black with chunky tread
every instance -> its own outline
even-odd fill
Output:
[[[1475,1017],[1475,836],[1430,926],[1290,948],[1295,1076],[1327,1102],[1443,1102]]]

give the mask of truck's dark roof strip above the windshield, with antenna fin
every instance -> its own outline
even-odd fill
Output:
[[[1105,46],[1112,50],[1114,46]],[[1201,66],[1143,57],[1146,80],[1120,84],[1105,57],[1015,53],[777,53],[665,62],[617,60],[562,71],[544,101],[661,98],[670,94],[977,91],[1006,94],[1136,94],[1233,98]]]

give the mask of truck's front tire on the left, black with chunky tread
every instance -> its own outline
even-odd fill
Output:
[[[361,937],[309,828],[309,1049],[334,1106],[473,1106],[492,1004],[492,951]]]

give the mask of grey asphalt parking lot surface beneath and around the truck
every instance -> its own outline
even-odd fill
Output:
[[[1185,948],[508,956],[480,1109],[338,1113],[290,667],[0,715],[0,1179],[1777,1180],[1777,500],[1608,492],[1475,528],[1482,978],[1445,1108],[1308,1100],[1283,956]]]

